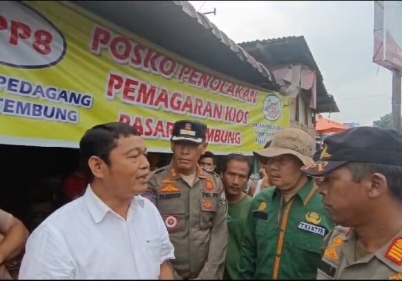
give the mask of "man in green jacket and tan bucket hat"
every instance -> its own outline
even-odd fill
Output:
[[[335,226],[314,180],[300,171],[313,163],[314,140],[303,130],[278,132],[254,155],[274,185],[253,199],[238,264],[243,279],[315,279],[323,238]]]

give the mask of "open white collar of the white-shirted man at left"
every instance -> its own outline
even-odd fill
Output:
[[[104,220],[104,217],[109,211],[111,213],[114,213],[108,205],[106,205],[99,197],[97,197],[97,195],[93,192],[90,184],[88,184],[88,187],[86,188],[84,201],[86,203],[86,206],[88,207],[90,215],[92,215],[93,220],[97,224]],[[133,200],[131,200],[130,209],[133,210],[137,206],[144,208],[144,204],[145,202],[143,197],[135,196],[133,197]]]

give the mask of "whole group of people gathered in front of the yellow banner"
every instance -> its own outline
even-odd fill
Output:
[[[288,128],[253,151],[259,173],[231,153],[218,174],[206,133],[176,122],[171,163],[151,173],[135,128],[87,130],[82,196],[29,238],[0,211],[3,279],[402,278],[401,134],[351,128],[313,159],[314,139]]]

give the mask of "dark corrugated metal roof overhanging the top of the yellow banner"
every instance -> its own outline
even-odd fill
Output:
[[[274,75],[188,1],[73,1],[166,50],[248,84],[278,90]]]

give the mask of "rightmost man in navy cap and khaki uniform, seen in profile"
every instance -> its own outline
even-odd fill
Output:
[[[302,168],[336,228],[325,238],[317,279],[402,278],[402,135],[357,127],[327,137]]]

